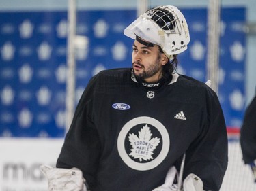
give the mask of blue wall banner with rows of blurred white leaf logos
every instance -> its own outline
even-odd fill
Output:
[[[191,41],[177,72],[205,82],[207,10],[182,10]],[[244,112],[246,9],[221,11],[219,98],[227,126]],[[76,103],[103,69],[131,67],[132,40],[124,28],[135,10],[77,12]],[[0,137],[63,137],[67,77],[67,12],[0,12]]]

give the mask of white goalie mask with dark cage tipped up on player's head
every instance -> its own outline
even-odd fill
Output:
[[[159,45],[165,54],[180,54],[190,41],[188,24],[177,7],[166,5],[154,7],[134,20],[124,35]]]

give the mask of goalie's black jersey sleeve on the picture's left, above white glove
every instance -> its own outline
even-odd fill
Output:
[[[100,157],[100,139],[94,125],[95,81],[96,77],[81,96],[56,164],[57,168],[81,169],[89,186],[96,184],[95,174]]]

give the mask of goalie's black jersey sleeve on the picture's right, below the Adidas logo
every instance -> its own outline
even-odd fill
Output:
[[[194,173],[202,179],[204,190],[217,191],[227,169],[227,130],[218,97],[212,89],[205,90],[201,133],[186,151],[184,178]]]

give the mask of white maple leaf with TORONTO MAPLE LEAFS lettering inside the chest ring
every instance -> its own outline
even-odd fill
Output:
[[[147,161],[153,159],[152,154],[154,154],[153,151],[160,143],[160,138],[154,137],[151,139],[151,137],[152,133],[147,124],[139,131],[139,137],[134,133],[130,133],[128,138],[130,145],[132,145],[132,152],[129,155],[134,159],[139,158],[140,162],[142,160]]]

